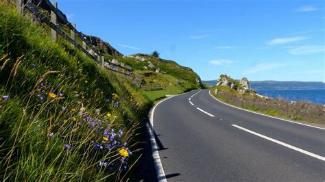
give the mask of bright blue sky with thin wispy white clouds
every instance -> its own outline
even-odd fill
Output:
[[[124,55],[160,53],[202,80],[325,82],[325,1],[57,0]]]

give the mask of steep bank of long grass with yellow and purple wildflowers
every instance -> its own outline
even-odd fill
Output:
[[[0,181],[122,179],[149,100],[0,1]]]

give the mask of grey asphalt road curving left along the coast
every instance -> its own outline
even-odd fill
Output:
[[[174,96],[154,111],[167,181],[325,181],[325,130],[197,92]]]

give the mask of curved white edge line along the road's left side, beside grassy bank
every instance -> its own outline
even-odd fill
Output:
[[[188,94],[189,92],[183,93],[183,94]],[[161,182],[166,182],[166,175],[165,175],[165,171],[163,168],[163,164],[161,164],[161,160],[159,157],[159,153],[158,153],[158,147],[156,144],[156,140],[154,138],[154,110],[156,109],[156,107],[160,104],[163,103],[163,101],[167,101],[168,99],[173,98],[174,96],[180,96],[182,94],[178,94],[178,95],[173,95],[170,96],[166,99],[163,99],[162,101],[156,103],[156,105],[154,105],[154,107],[152,107],[152,109],[149,112],[149,122],[151,125],[149,125],[147,123],[147,128],[149,128],[149,137],[150,137],[150,144],[152,146],[152,158],[154,159],[154,165],[156,168],[156,172],[157,172],[157,179],[158,181]]]

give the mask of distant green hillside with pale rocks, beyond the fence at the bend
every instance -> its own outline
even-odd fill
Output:
[[[136,57],[141,57],[144,60],[141,61]],[[144,54],[136,54],[132,57],[117,57],[106,54],[106,58],[115,59],[131,66],[135,70],[132,73],[132,79],[136,85],[162,86],[163,90],[143,92],[150,101],[156,101],[166,94],[180,94],[188,90],[202,88],[202,85],[197,83],[200,77],[191,68],[180,66],[170,60]],[[154,65],[154,68],[150,68],[149,64]],[[156,73],[157,68],[159,69],[158,73]]]

